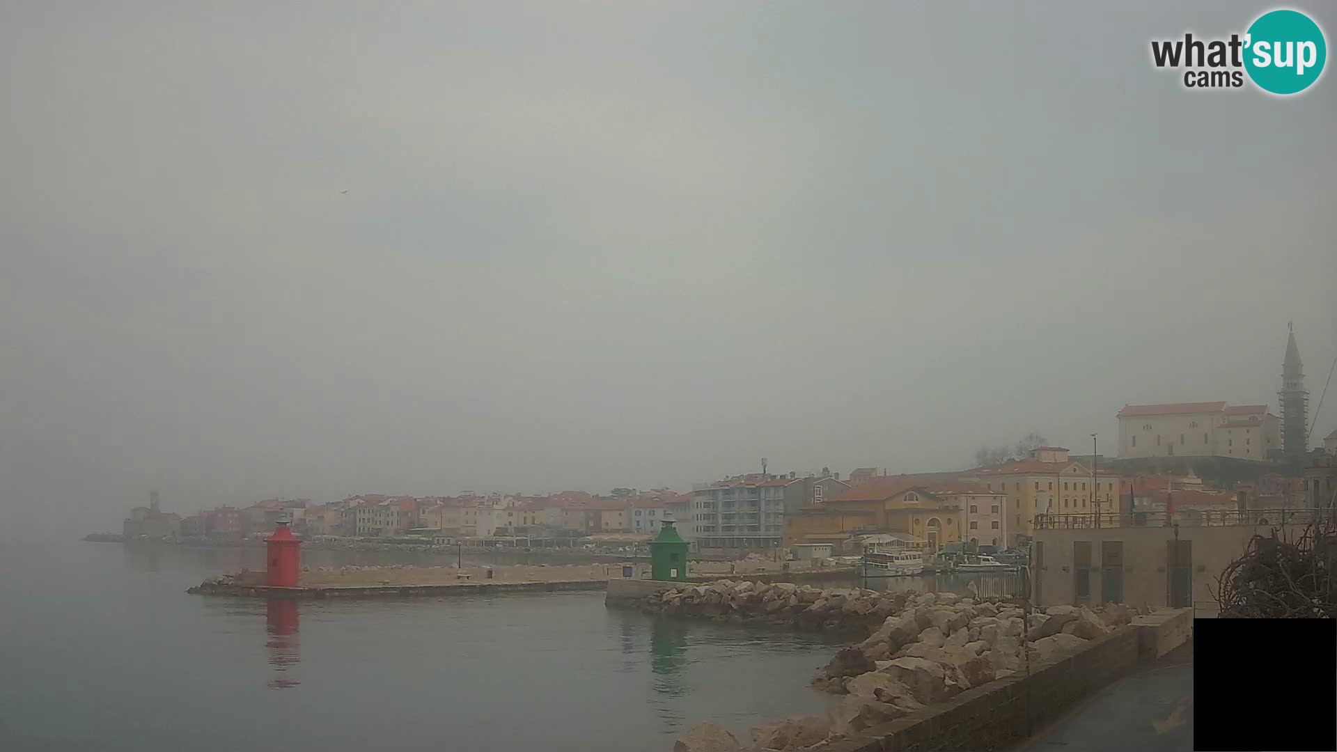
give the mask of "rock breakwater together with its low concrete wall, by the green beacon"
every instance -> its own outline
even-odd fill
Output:
[[[845,698],[825,716],[750,729],[701,724],[675,752],[981,751],[1025,737],[1075,700],[1191,637],[1187,609],[1029,609],[951,593],[817,589],[721,579],[709,585],[610,583],[610,605],[727,624],[820,629],[858,638],[813,685]],[[639,591],[636,591],[639,589]]]

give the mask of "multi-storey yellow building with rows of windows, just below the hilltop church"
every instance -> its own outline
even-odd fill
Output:
[[[1070,460],[1068,450],[1062,447],[1040,447],[1027,459],[977,470],[968,479],[1007,494],[1008,546],[1035,533],[1036,512],[1118,515],[1122,511],[1119,475],[1100,470],[1092,476],[1090,467]]]

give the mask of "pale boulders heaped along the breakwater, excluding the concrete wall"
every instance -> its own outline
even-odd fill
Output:
[[[737,741],[730,745],[731,735],[702,724],[710,728],[689,732],[674,747],[677,752],[821,749],[844,736],[1023,672],[1027,661],[1071,653],[1088,640],[1128,625],[1138,613],[1119,603],[1028,612],[1019,602],[951,593],[821,590],[727,579],[674,587],[644,598],[640,607],[714,621],[865,636],[836,653],[812,680],[813,686],[846,694],[829,717],[762,724],[751,729],[754,744],[746,748]]]

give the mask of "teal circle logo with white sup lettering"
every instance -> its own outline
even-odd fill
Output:
[[[1324,32],[1300,11],[1270,11],[1258,16],[1245,37],[1245,70],[1258,88],[1300,94],[1324,72],[1328,43]]]

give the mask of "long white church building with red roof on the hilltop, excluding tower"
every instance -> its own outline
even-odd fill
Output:
[[[1265,404],[1130,404],[1118,417],[1122,459],[1225,456],[1266,462],[1281,448],[1281,426]]]

